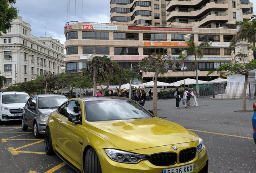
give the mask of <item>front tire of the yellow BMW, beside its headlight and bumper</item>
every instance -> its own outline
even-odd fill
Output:
[[[101,164],[94,149],[90,148],[85,154],[85,171],[84,173],[101,173]]]

